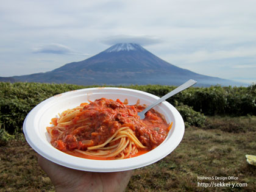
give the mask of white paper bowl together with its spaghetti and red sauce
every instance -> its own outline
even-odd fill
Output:
[[[185,126],[169,102],[137,115],[158,99],[129,88],[98,87],[57,94],[26,116],[27,143],[44,158],[68,168],[115,172],[141,168],[179,145]]]

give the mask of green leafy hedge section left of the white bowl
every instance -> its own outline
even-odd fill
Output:
[[[22,132],[27,113],[55,94],[84,88],[77,85],[0,82],[0,127],[9,133]]]

